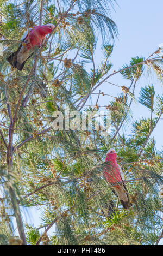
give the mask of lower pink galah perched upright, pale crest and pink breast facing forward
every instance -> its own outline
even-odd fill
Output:
[[[120,199],[123,208],[128,209],[132,204],[130,203],[126,186],[122,183],[124,181],[124,176],[120,165],[116,162],[116,158],[117,153],[114,148],[108,150],[105,157],[105,162],[108,162],[108,164],[105,164],[103,175],[106,178],[106,181],[112,185],[112,188]]]

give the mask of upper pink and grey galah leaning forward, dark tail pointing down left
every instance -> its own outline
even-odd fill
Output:
[[[34,46],[40,47],[47,34],[54,29],[53,24],[37,26],[26,32],[21,40],[17,51],[12,53],[7,61],[18,70],[22,70],[27,59],[30,58],[34,51]]]

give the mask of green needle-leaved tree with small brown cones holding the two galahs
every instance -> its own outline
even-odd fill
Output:
[[[141,85],[138,100],[149,117],[140,120],[133,118],[131,104],[145,64],[160,72],[161,59],[136,56],[124,64],[118,73],[126,85],[130,80],[130,87],[119,86],[122,92],[117,97],[108,95],[109,130],[96,129],[98,99],[108,92],[96,91],[96,99],[92,94],[110,77],[117,36],[109,11],[114,4],[111,0],[0,1],[1,245],[154,245],[160,239],[162,151],[156,150],[151,134],[161,118],[163,98],[154,85]],[[6,58],[17,49],[24,32],[41,20],[53,23],[55,29],[20,72]],[[97,61],[99,44],[103,57]],[[89,98],[92,105],[87,106]],[[66,118],[67,108],[75,115],[84,109],[87,122],[90,116],[94,121],[87,129],[77,122],[73,129],[54,130],[54,111]],[[106,123],[106,116],[101,118]],[[64,119],[64,127],[65,123]],[[133,204],[128,210],[122,209],[102,174],[105,154],[112,147],[118,152]],[[39,227],[23,222],[20,207],[41,209]]]

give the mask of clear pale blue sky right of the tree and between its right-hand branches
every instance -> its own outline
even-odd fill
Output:
[[[110,73],[112,73],[113,70],[121,68],[124,63],[129,63],[131,57],[148,57],[158,49],[158,45],[163,42],[162,0],[156,0],[155,2],[153,0],[117,0],[117,3],[118,5],[115,5],[116,12],[114,10],[111,11],[111,17],[118,27],[119,35],[118,38],[115,39],[114,50],[110,57],[110,62],[114,65]],[[96,61],[99,61],[99,57],[101,57],[101,52],[97,50]],[[129,86],[130,84],[130,82],[123,79],[120,74],[112,76],[108,81],[120,86]],[[145,70],[136,85],[136,98],[139,97],[140,88],[148,84],[154,85],[155,94],[162,94],[162,85],[157,80],[156,76],[148,76],[148,72]],[[97,92],[99,90],[115,97],[117,93],[122,92],[121,88],[111,86],[108,83],[104,83],[99,87]],[[99,105],[109,104],[109,100],[111,100],[111,98],[101,96]],[[142,116],[149,117],[150,112],[140,103],[133,103],[131,109],[133,110],[134,120]],[[156,139],[156,148],[159,150],[162,147],[162,126],[163,120],[160,120],[158,126],[152,133],[152,136]],[[127,129],[126,134],[129,133],[130,129]]]

